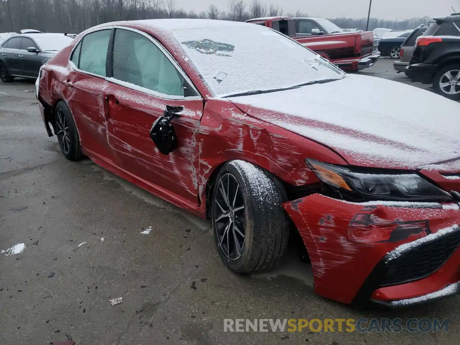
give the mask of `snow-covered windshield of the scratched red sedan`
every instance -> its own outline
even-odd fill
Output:
[[[172,32],[215,96],[277,90],[345,76],[326,59],[260,25],[223,22],[213,28]]]

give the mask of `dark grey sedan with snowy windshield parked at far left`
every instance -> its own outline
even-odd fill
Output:
[[[65,34],[30,33],[8,38],[0,48],[0,79],[7,83],[15,77],[37,78],[40,67],[73,37]]]

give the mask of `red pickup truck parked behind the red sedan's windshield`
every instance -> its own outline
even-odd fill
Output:
[[[346,71],[358,71],[371,67],[380,58],[379,52],[373,53],[374,34],[372,31],[317,35],[320,33],[319,30],[311,30],[312,35],[310,36],[296,37],[294,21],[291,17],[254,18],[246,22],[264,25],[288,35]]]

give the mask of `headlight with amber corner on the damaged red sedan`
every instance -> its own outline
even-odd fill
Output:
[[[415,173],[356,173],[312,159],[305,162],[318,178],[344,193],[392,201],[452,201],[452,196]]]

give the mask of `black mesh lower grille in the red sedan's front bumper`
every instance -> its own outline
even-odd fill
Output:
[[[436,272],[460,244],[459,230],[434,241],[422,243],[386,265],[380,287],[423,279]]]

